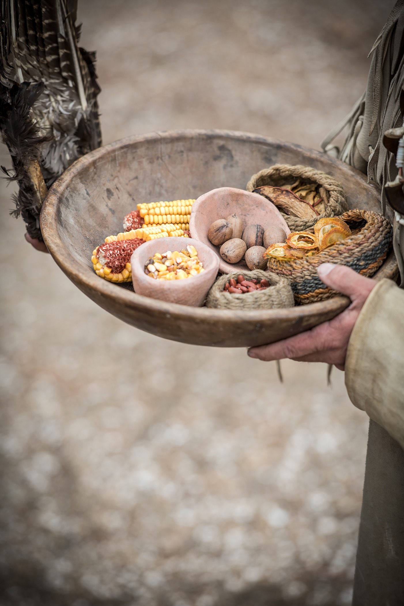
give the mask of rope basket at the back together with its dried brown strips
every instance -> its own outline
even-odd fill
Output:
[[[267,185],[270,188],[266,191]],[[273,202],[291,231],[308,230],[318,219],[338,216],[348,210],[339,182],[322,170],[301,164],[274,164],[264,168],[252,176],[246,189],[258,190],[256,193]],[[282,189],[287,193],[283,200],[279,191]]]

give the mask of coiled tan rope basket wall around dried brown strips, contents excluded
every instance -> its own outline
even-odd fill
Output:
[[[307,231],[319,219],[341,215],[341,213],[348,210],[344,190],[335,179],[322,170],[316,170],[316,168],[302,166],[301,164],[296,166],[292,166],[292,164],[274,164],[270,168],[264,168],[264,170],[260,170],[259,173],[252,176],[246,189],[247,191],[253,191],[257,187],[262,187],[262,185],[282,187],[282,185],[290,183],[291,180],[295,181],[297,178],[307,183],[321,185],[325,212],[313,219],[299,219],[281,213],[291,231]]]

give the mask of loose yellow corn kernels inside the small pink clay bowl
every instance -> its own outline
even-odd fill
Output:
[[[192,278],[204,271],[203,263],[198,259],[197,249],[189,244],[181,252],[168,250],[163,255],[155,253],[145,263],[145,273],[159,280],[183,280]]]

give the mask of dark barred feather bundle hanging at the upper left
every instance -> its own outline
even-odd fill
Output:
[[[19,184],[16,210],[41,239],[47,188],[101,145],[95,53],[79,48],[77,0],[2,0],[0,130]]]

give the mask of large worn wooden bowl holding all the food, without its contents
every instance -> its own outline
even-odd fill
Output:
[[[218,347],[262,345],[296,335],[344,310],[349,299],[284,310],[228,311],[186,307],[137,295],[99,278],[91,253],[122,231],[138,202],[198,198],[216,187],[245,188],[276,162],[305,164],[341,182],[350,208],[380,211],[380,189],[329,156],[246,133],[189,130],[132,136],[83,156],[51,187],[41,228],[51,255],[68,278],[98,305],[128,324],[174,341]],[[397,272],[392,255],[376,279]]]

